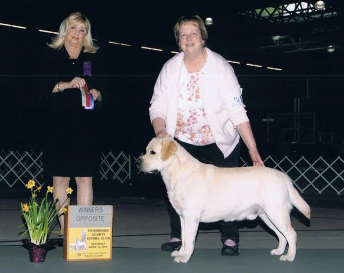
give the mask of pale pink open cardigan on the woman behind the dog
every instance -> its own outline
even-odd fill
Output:
[[[249,119],[233,68],[221,55],[208,48],[206,52],[207,64],[200,80],[200,93],[212,135],[226,158],[240,140],[235,126]],[[175,134],[177,126],[179,92],[188,80],[183,57],[184,53],[180,53],[163,65],[149,108],[150,120],[163,118],[166,132],[171,135]]]

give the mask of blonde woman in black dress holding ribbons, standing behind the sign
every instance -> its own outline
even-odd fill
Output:
[[[97,89],[96,77],[92,76],[97,70],[94,53],[98,47],[92,41],[90,21],[81,13],[70,14],[48,45],[53,50],[45,57],[44,67],[49,73],[44,87],[48,109],[45,173],[53,177],[54,196],[58,194],[61,207],[69,205],[65,196],[70,177],[76,181],[77,205],[92,205],[92,178],[100,159],[98,108],[104,92]],[[85,85],[94,109],[82,106]],[[85,102],[85,93],[83,97]],[[59,221],[63,233],[63,215]]]

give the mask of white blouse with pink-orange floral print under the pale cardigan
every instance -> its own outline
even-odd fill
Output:
[[[200,97],[199,79],[202,76],[203,68],[189,73],[188,83],[181,89],[175,132],[175,138],[197,146],[215,142]]]

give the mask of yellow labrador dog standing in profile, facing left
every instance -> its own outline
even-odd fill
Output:
[[[293,261],[296,232],[290,223],[295,206],[308,219],[311,209],[298,194],[290,178],[268,167],[219,168],[203,164],[171,138],[154,138],[139,158],[139,167],[148,173],[160,172],[171,205],[180,215],[182,247],[172,252],[175,262],[188,262],[195,245],[199,222],[233,221],[257,216],[278,239],[272,255]]]

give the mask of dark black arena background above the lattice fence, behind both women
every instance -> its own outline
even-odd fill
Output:
[[[80,11],[92,24],[93,38],[100,46],[102,82],[109,102],[104,108],[100,132],[103,151],[138,155],[153,137],[148,107],[157,75],[178,51],[173,26],[183,15],[212,17],[208,26],[208,47],[231,64],[243,87],[243,100],[257,145],[265,158],[272,156],[330,156],[343,154],[343,2],[325,1],[332,17],[300,22],[269,22],[247,15],[258,8],[290,4],[286,1],[5,1],[0,23],[25,26],[19,29],[0,25],[0,150],[41,150],[39,92],[32,67],[49,50],[52,34],[63,19]],[[311,3],[311,2],[309,2]],[[311,4],[314,4],[313,2]],[[245,15],[246,14],[246,15]],[[280,44],[272,40],[281,35]],[[131,44],[131,47],[108,41]],[[292,42],[293,41],[293,42]],[[326,46],[335,45],[328,53]],[[162,52],[141,49],[141,46]],[[300,46],[302,48],[300,48]],[[290,52],[291,51],[291,52]],[[263,65],[249,67],[246,63]],[[267,66],[282,71],[268,70]],[[308,80],[308,87],[306,81]],[[316,142],[312,145],[282,139],[283,122],[271,124],[267,142],[267,114],[295,112],[315,114]],[[304,130],[310,130],[307,124]],[[322,133],[335,135],[334,141],[320,141]],[[309,131],[309,133],[312,133]],[[246,149],[242,149],[247,157]],[[147,176],[142,176],[143,180]],[[152,177],[152,176],[150,176]],[[141,179],[141,178],[140,178]],[[152,178],[151,178],[152,179]],[[155,178],[154,178],[155,179]]]

